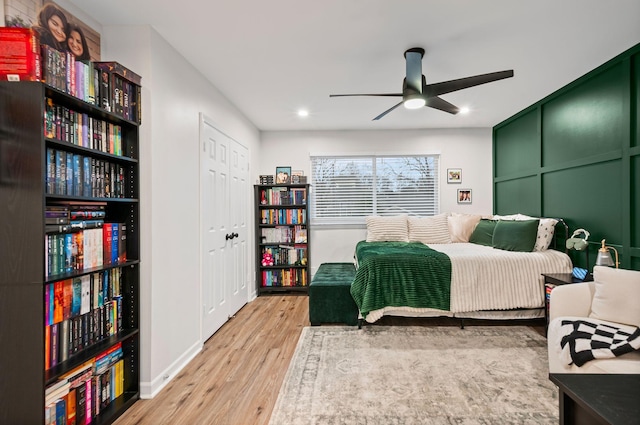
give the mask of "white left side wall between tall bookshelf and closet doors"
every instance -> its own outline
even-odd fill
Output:
[[[102,60],[118,61],[142,76],[140,378],[141,396],[148,398],[204,343],[199,113],[249,148],[254,158],[259,133],[149,26],[103,27]],[[250,163],[249,169],[255,168]]]

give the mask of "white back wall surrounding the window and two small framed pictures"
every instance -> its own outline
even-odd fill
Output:
[[[258,174],[274,174],[276,166],[291,166],[310,175],[311,154],[439,154],[440,211],[490,214],[493,208],[491,129],[402,131],[263,132]],[[447,184],[447,168],[462,168],[462,183]],[[472,204],[459,205],[456,191],[473,189]],[[313,190],[313,189],[312,189]],[[311,272],[325,262],[349,262],[361,228],[313,227]]]

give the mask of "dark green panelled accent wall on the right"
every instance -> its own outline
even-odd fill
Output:
[[[640,270],[639,123],[640,44],[493,128],[494,213],[563,218],[589,268],[606,239]]]

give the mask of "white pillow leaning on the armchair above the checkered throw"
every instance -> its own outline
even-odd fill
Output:
[[[640,326],[640,271],[595,266],[589,317]]]

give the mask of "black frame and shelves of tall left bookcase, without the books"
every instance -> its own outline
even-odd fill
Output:
[[[53,103],[86,117],[116,125],[122,149],[110,153],[46,134],[44,117]],[[0,82],[0,423],[45,423],[45,390],[95,356],[122,345],[122,394],[104,406],[92,423],[114,422],[140,397],[139,336],[139,130],[138,118],[125,119],[40,82]],[[100,124],[102,125],[102,124]],[[51,193],[47,187],[48,150],[78,154],[117,165],[118,197]],[[91,170],[95,171],[91,162]],[[92,177],[93,178],[93,177]],[[47,270],[45,211],[48,206],[100,204],[106,222],[126,225],[126,261],[55,273]],[[77,232],[77,230],[76,230]],[[98,254],[96,254],[98,255]],[[121,316],[118,331],[85,343],[45,367],[48,285],[119,269]],[[91,306],[93,309],[95,306]],[[63,360],[64,359],[64,360]]]

